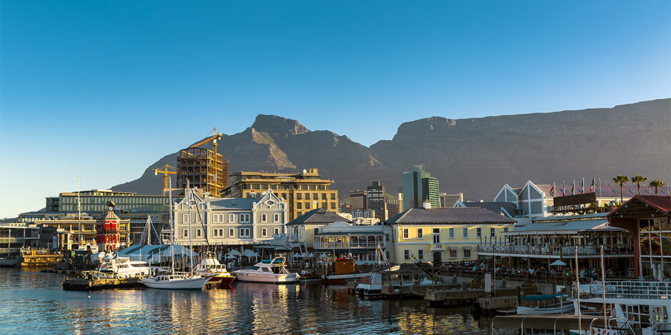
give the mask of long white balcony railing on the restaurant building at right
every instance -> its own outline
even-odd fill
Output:
[[[575,246],[496,246],[480,244],[478,253],[510,253],[514,255],[575,255]],[[600,255],[600,246],[578,246],[578,255]],[[631,244],[604,245],[606,255],[632,255],[634,247]]]

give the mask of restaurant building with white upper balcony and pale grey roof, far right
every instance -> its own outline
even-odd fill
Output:
[[[533,218],[521,228],[503,232],[503,239],[489,239],[477,246],[479,258],[496,258],[509,267],[550,269],[561,260],[575,269],[600,268],[600,246],[606,267],[618,276],[633,276],[633,240],[629,232],[608,224],[607,213]],[[577,247],[577,248],[576,248]]]

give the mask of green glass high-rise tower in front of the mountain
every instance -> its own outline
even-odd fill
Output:
[[[440,207],[438,186],[438,179],[431,177],[424,165],[403,172],[403,210],[421,208],[424,200],[430,201],[433,208]]]

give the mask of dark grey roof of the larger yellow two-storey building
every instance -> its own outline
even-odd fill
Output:
[[[484,208],[447,207],[447,208],[411,208],[390,218],[387,225],[393,224],[512,224],[516,221]]]

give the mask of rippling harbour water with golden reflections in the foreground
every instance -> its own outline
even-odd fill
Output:
[[[0,269],[0,334],[488,334],[468,307],[366,300],[345,286],[64,291],[66,276]]]

